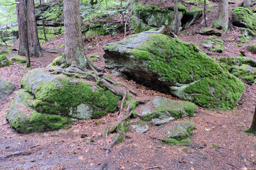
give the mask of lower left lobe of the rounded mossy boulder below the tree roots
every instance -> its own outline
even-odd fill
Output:
[[[11,127],[18,132],[46,132],[49,130],[58,130],[65,125],[72,123],[69,118],[63,118],[60,115],[50,115],[33,111],[31,104],[35,97],[25,90],[21,89],[16,94],[14,101],[11,102],[6,119]]]

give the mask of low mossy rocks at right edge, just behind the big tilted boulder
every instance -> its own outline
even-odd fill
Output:
[[[256,61],[248,57],[220,57],[220,62],[228,71],[239,77],[245,83],[255,85]]]

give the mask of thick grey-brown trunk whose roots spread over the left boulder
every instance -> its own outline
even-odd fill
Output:
[[[82,44],[79,0],[64,0],[65,52],[67,64],[87,67],[87,58]]]

